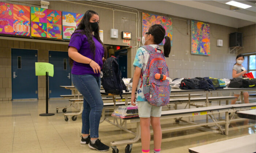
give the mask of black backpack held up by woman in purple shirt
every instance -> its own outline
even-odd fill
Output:
[[[102,86],[106,93],[120,94],[122,98],[123,90],[128,91],[122,80],[122,73],[119,70],[117,59],[112,56],[108,58],[102,68]]]

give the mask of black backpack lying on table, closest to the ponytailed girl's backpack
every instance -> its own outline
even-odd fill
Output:
[[[184,90],[196,90],[199,89],[198,79],[183,79],[180,83],[180,89]]]

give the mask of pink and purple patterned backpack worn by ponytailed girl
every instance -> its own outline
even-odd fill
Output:
[[[141,73],[143,94],[147,101],[153,106],[165,106],[170,101],[171,86],[169,80],[155,79],[155,74],[163,74],[169,77],[169,69],[165,62],[162,50],[146,45],[141,46],[146,49],[150,56],[145,71]]]

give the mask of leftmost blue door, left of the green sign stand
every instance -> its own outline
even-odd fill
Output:
[[[37,50],[11,49],[12,99],[38,98]]]

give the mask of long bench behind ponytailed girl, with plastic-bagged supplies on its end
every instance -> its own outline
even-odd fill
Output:
[[[162,132],[165,131],[172,131],[172,130],[180,130],[180,129],[190,129],[198,126],[203,126],[206,127],[206,125],[217,125],[218,129],[222,132],[222,134],[228,135],[228,129],[229,129],[229,111],[231,109],[231,106],[210,106],[210,107],[199,107],[199,108],[191,108],[191,109],[180,109],[180,110],[167,110],[167,111],[162,111],[161,113],[161,118],[160,119],[169,119],[169,118],[179,118],[179,117],[191,117],[191,116],[198,116],[198,115],[210,115],[213,116],[213,114],[217,113],[225,113],[225,121],[217,121],[215,119],[212,119],[213,122],[210,123],[195,123],[195,122],[189,122],[190,125],[187,126],[181,126],[181,127],[171,127],[171,128],[166,128],[162,129]],[[118,118],[118,117],[114,117]],[[214,117],[212,117],[214,118]],[[133,118],[124,118],[123,120],[127,120],[130,122],[136,122],[136,133],[129,131],[129,133],[134,134],[135,138],[130,139],[130,140],[122,140],[122,141],[113,141],[110,143],[113,153],[117,153],[118,145],[126,145],[126,149],[131,149],[132,144],[137,142],[140,139],[140,120],[139,117],[133,117]],[[221,128],[219,125],[220,123],[225,123],[225,130]],[[153,133],[153,131],[151,131]]]

